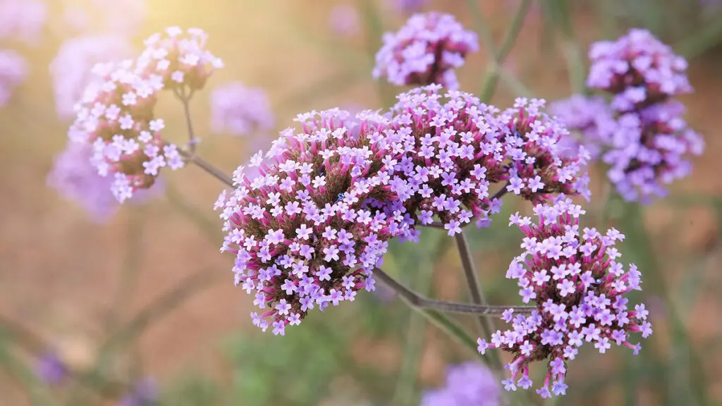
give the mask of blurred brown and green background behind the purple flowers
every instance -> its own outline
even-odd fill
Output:
[[[402,89],[370,74],[382,33],[430,10],[477,30],[468,3],[0,0],[0,87],[9,89],[0,95],[0,405],[113,405],[139,392],[136,384],[154,386],[159,405],[418,405],[425,389],[443,385],[447,366],[474,359],[383,289],[311,314],[285,337],[257,331],[251,296],[233,287],[232,256],[218,253],[212,205],[223,185],[198,168],[165,171],[156,194],[103,218],[48,180],[90,61],[132,56],[165,27],[205,30],[207,48],[225,61],[191,114],[199,153],[230,173],[297,113],[391,105]],[[498,46],[520,1],[477,4]],[[586,60],[589,43],[629,27],[647,27],[690,59],[695,92],[682,100],[707,148],[668,199],[638,207],[593,196],[586,206],[586,225],[608,219],[627,234],[620,251],[643,272],[638,298],[655,334],[638,357],[585,348],[556,402],[721,405],[722,2],[533,1],[504,67],[536,97],[566,98],[575,80],[567,61]],[[471,53],[457,72],[461,90],[479,92],[489,57],[483,43]],[[272,117],[240,137],[212,125],[213,90],[235,81],[264,90]],[[518,90],[502,82],[492,103],[504,108]],[[163,95],[156,113],[168,138],[185,142],[181,104]],[[594,176],[595,196],[604,181]],[[520,252],[521,233],[504,218],[516,210],[529,207],[505,199],[492,228],[469,236],[490,303],[519,303],[504,278]],[[430,231],[422,241],[438,254],[433,266],[417,254],[422,247],[394,246],[388,272],[466,301],[458,254],[443,240]],[[48,381],[38,372],[47,372],[46,358],[80,378]]]

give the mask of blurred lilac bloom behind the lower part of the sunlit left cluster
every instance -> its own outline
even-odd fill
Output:
[[[65,150],[55,159],[48,173],[48,186],[56,189],[65,199],[74,200],[96,223],[105,223],[118,211],[118,200],[110,191],[113,178],[103,177],[90,163],[92,145],[68,142]],[[156,182],[151,189],[137,191],[131,202],[142,203],[162,191],[162,182]]]

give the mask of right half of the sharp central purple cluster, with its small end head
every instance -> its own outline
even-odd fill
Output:
[[[501,199],[490,196],[494,183],[543,202],[554,194],[588,196],[588,176],[581,173],[587,154],[560,157],[556,143],[566,129],[540,111],[544,100],[518,99],[506,111],[485,105],[466,92],[438,94],[438,85],[398,96],[391,108],[386,143],[407,183],[406,208],[414,220],[430,224],[435,215],[448,234],[461,233],[472,217],[477,226],[490,223]]]

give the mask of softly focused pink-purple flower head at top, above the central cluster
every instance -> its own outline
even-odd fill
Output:
[[[373,77],[393,85],[442,85],[458,88],[454,69],[479,49],[477,34],[464,30],[451,14],[414,14],[396,33],[383,35]]]

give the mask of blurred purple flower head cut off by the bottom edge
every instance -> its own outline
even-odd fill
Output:
[[[446,370],[446,384],[427,391],[421,406],[498,406],[500,387],[482,363],[466,362]]]

